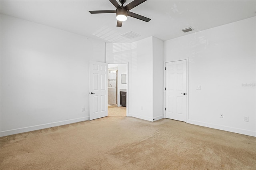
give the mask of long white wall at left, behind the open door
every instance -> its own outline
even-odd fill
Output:
[[[104,42],[1,14],[1,135],[88,120],[89,61],[104,62],[104,51]]]

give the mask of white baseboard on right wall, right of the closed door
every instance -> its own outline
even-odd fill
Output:
[[[241,128],[234,128],[234,127],[227,127],[227,126],[205,123],[205,122],[200,122],[200,121],[193,121],[193,120],[188,120],[187,123],[190,123],[190,124],[193,124],[193,125],[199,125],[199,126],[202,126],[202,127],[215,128],[215,129],[219,129],[219,130],[225,130],[225,131],[228,131],[228,132],[234,132],[234,133],[245,134],[245,135],[248,135],[248,136],[256,137],[256,132],[251,131],[251,130],[246,130],[246,129],[241,129]]]

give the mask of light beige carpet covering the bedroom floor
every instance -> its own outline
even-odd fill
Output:
[[[1,170],[255,170],[256,138],[104,117],[1,137]]]

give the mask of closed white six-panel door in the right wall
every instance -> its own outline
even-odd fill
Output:
[[[186,60],[166,63],[166,118],[186,122]]]

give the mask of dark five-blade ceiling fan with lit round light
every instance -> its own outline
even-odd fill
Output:
[[[118,2],[116,2],[116,0],[109,0],[109,1],[116,7],[116,10],[99,10],[99,11],[89,11],[89,12],[91,14],[116,13],[116,19],[118,20],[116,24],[117,27],[122,26],[123,21],[127,20],[127,16],[137,18],[139,20],[146,21],[146,22],[149,22],[151,20],[150,18],[146,18],[144,16],[141,16],[139,14],[135,14],[129,11],[132,8],[138,6],[139,4],[142,4],[146,0],[134,0],[129,4],[127,4],[126,6],[123,6],[126,0],[119,0],[119,2],[122,4],[121,6],[118,4]]]

